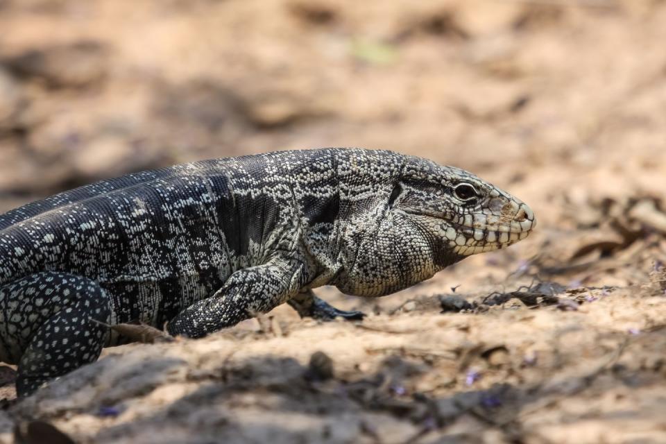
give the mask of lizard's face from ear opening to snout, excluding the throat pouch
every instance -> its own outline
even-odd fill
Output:
[[[402,213],[431,244],[461,257],[515,244],[536,226],[521,200],[454,167],[407,168],[393,184],[387,207]]]

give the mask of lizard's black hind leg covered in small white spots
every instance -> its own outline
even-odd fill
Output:
[[[111,305],[92,280],[44,272],[1,287],[0,314],[1,358],[18,364],[16,389],[23,397],[96,361],[108,336],[104,324]]]

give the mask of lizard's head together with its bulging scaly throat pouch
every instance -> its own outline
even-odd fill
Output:
[[[419,157],[377,191],[339,289],[382,296],[465,257],[505,248],[536,226],[522,201],[472,173]]]

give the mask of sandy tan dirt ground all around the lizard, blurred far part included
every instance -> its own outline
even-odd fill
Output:
[[[395,296],[321,289],[362,323],[279,307],[22,402],[3,368],[0,441],[665,443],[664,42],[660,0],[0,0],[2,210],[364,146],[470,169],[539,221]]]

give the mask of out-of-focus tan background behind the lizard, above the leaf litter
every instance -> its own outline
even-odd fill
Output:
[[[178,162],[362,146],[558,199],[664,190],[660,0],[0,0],[0,210]]]

